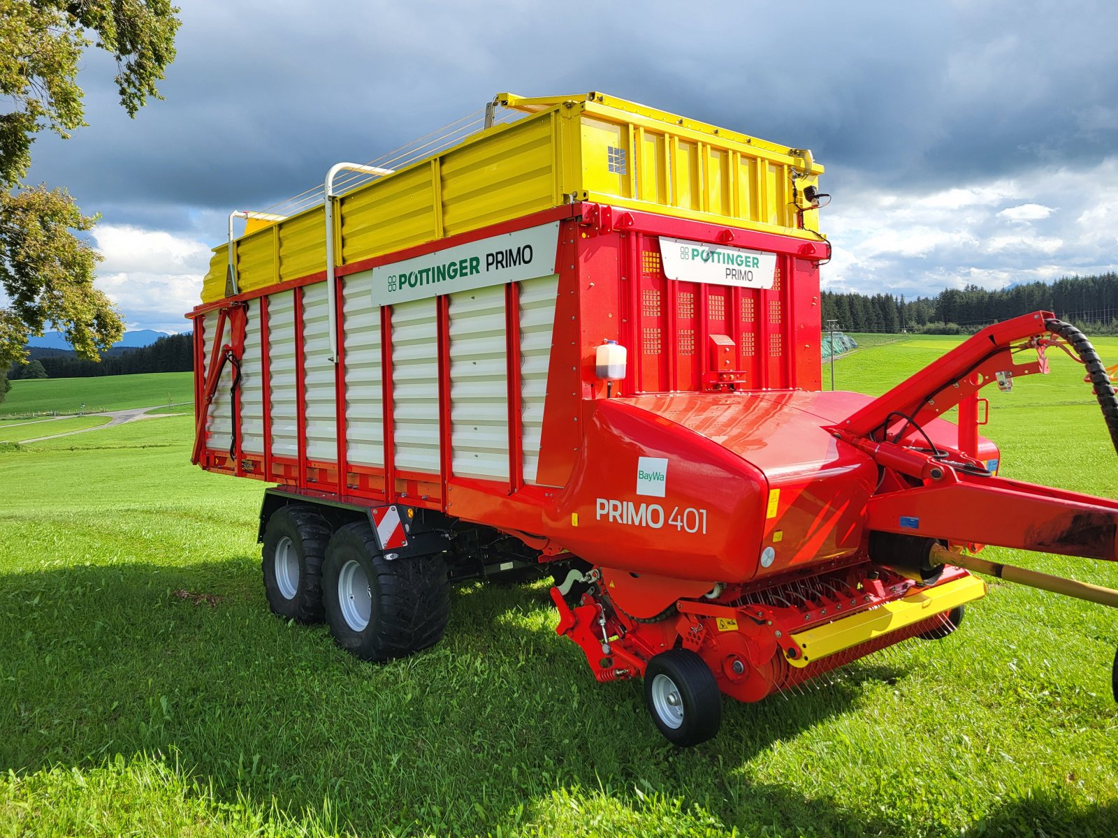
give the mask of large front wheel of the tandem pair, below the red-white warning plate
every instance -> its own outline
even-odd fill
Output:
[[[364,522],[340,527],[330,540],[322,590],[330,634],[366,660],[391,660],[434,646],[451,616],[443,558],[386,559]],[[368,591],[367,600],[361,590]]]

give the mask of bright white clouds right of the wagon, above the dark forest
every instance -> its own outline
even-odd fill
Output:
[[[1118,207],[1099,196],[1116,192],[1118,159],[923,194],[872,188],[840,194],[822,219],[834,246],[823,283],[911,297],[1114,270]]]

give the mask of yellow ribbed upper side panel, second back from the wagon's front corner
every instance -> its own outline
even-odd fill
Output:
[[[430,163],[345,196],[340,215],[343,264],[438,238]]]

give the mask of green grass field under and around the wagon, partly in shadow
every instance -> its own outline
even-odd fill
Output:
[[[839,385],[881,392],[956,342],[863,349]],[[1118,496],[1073,364],[989,399],[1004,474]],[[0,836],[1118,834],[1108,609],[995,582],[948,639],[727,701],[681,751],[639,684],[597,685],[555,636],[542,587],[457,591],[445,640],[385,666],[274,618],[262,485],[191,467],[190,436],[182,416],[0,451]]]

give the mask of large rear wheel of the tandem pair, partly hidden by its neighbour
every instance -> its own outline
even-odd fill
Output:
[[[260,569],[272,612],[299,622],[322,621],[322,561],[330,524],[313,506],[282,506],[264,527]]]

